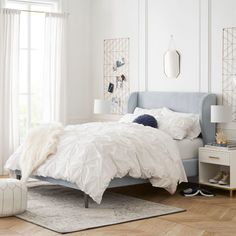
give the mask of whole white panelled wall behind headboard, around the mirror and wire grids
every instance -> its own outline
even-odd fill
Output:
[[[103,40],[130,37],[131,90],[214,92],[220,102],[222,29],[236,26],[235,12],[235,0],[92,0],[93,97],[103,96]],[[178,79],[163,73],[170,35],[181,53]]]

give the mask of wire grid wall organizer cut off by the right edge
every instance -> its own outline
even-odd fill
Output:
[[[236,27],[223,29],[222,94],[223,104],[232,107],[236,121]]]

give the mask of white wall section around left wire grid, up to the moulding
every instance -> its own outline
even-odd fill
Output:
[[[103,41],[113,38],[130,38],[131,90],[139,86],[139,1],[92,0],[91,72],[93,97],[103,97]]]

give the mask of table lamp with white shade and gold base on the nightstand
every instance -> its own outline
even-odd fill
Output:
[[[232,109],[230,106],[212,105],[211,123],[228,123],[232,121]],[[227,137],[223,130],[216,133],[216,143],[222,146],[227,145]]]

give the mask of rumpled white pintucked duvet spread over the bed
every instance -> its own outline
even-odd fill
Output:
[[[6,169],[20,169],[21,149],[8,159]],[[59,136],[56,154],[35,174],[75,183],[97,203],[115,177],[148,178],[153,186],[170,193],[187,181],[178,147],[169,135],[118,122],[67,126]]]

